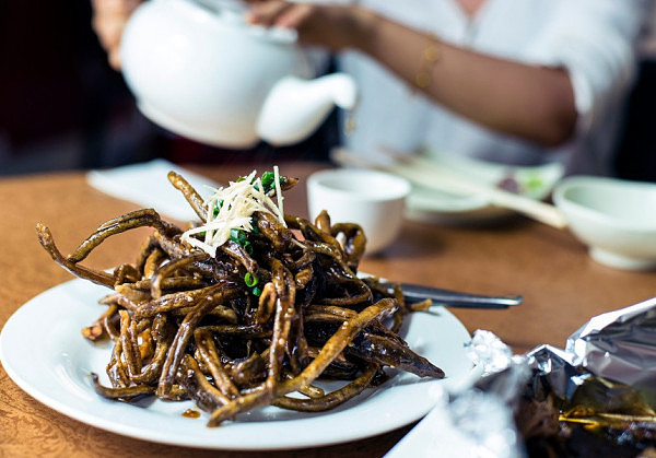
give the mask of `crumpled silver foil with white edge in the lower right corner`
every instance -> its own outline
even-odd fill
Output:
[[[446,457],[527,456],[515,423],[519,400],[527,396],[542,401],[548,394],[565,407],[583,401],[620,409],[624,418],[656,419],[652,410],[656,407],[652,396],[656,392],[656,297],[593,317],[564,349],[542,344],[526,355],[513,355],[492,332],[479,330],[467,353],[478,368],[476,376],[445,394],[388,457],[427,457],[437,451]],[[447,441],[453,446],[445,446]]]

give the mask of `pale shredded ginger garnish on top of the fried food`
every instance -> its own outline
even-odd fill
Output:
[[[286,227],[278,167],[273,167],[274,187],[267,193],[262,191],[261,179],[256,178],[256,174],[257,171],[253,171],[244,179],[230,181],[227,187],[214,189],[214,193],[203,202],[208,209],[207,223],[186,231],[183,242],[215,257],[216,249],[230,239],[231,230],[253,231],[251,216],[256,211],[272,214]],[[271,199],[273,195],[277,202]],[[215,209],[219,210],[216,214]],[[204,238],[196,237],[202,233]]]

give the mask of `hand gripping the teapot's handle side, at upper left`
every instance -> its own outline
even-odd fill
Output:
[[[107,51],[109,64],[120,69],[120,36],[126,22],[143,0],[92,0],[92,25]]]

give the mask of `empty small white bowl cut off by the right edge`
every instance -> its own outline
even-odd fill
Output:
[[[656,184],[572,176],[555,186],[553,201],[596,261],[656,268]]]

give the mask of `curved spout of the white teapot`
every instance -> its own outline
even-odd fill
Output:
[[[336,105],[353,109],[356,102],[355,82],[345,73],[309,81],[285,77],[267,95],[257,131],[272,145],[297,143],[309,137]]]

